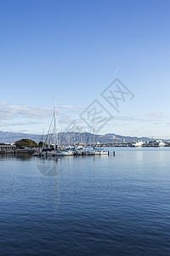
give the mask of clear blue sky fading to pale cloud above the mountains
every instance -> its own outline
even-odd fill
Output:
[[[0,130],[58,131],[97,99],[99,133],[170,138],[170,2],[0,1]],[[117,69],[117,67],[119,67]],[[117,73],[116,73],[117,70]],[[101,93],[120,79],[133,99],[117,113]]]

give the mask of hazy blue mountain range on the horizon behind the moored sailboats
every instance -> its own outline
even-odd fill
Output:
[[[46,137],[46,136],[45,136]],[[52,135],[51,135],[52,137]],[[35,135],[29,133],[17,133],[17,132],[9,132],[9,131],[0,131],[0,143],[15,143],[16,141],[28,138],[37,143],[42,140],[42,135]],[[49,136],[50,138],[50,136]],[[133,143],[134,141],[150,141],[153,138],[150,137],[126,137],[121,135],[116,135],[115,133],[107,133],[105,135],[94,135],[92,133],[84,132],[63,132],[62,134],[59,132],[58,134],[59,143],[65,145],[69,143],[88,143],[93,144],[93,142],[97,143]],[[51,138],[52,143],[52,138]]]

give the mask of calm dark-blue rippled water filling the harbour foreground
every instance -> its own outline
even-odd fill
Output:
[[[170,255],[170,148],[0,155],[1,255]]]

